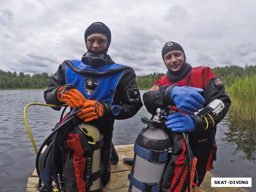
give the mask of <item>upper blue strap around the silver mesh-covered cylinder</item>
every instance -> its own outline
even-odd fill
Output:
[[[165,162],[168,158],[168,151],[153,151],[140,147],[136,141],[134,143],[134,153],[148,161]]]

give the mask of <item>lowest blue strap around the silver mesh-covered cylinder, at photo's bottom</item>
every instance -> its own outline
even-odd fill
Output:
[[[161,188],[161,184],[160,183],[143,183],[139,180],[136,180],[133,176],[132,176],[132,172],[130,174],[130,182],[131,184],[140,189],[141,191],[145,191],[145,192],[158,192],[159,189]]]

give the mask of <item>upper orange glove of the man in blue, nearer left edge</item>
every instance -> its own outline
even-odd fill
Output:
[[[75,106],[81,108],[84,106],[85,97],[77,89],[70,89],[64,92],[65,87],[60,87],[58,91],[58,99],[60,102],[66,103],[68,106],[74,108]]]

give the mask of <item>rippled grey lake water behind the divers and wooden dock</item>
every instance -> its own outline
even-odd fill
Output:
[[[23,111],[29,103],[45,103],[44,90],[0,90],[0,191],[25,191],[28,177],[35,169],[36,155],[24,122]],[[145,91],[140,91],[141,95]],[[45,106],[30,106],[28,125],[40,148],[59,121],[61,111]],[[133,144],[146,125],[141,117],[151,118],[143,106],[132,118],[116,120],[114,145]],[[228,116],[217,125],[217,162],[210,172],[220,177],[251,177],[256,188],[255,124],[230,120]],[[253,189],[254,188],[254,189]]]

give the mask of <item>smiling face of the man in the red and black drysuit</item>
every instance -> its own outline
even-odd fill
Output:
[[[164,63],[171,71],[178,71],[184,63],[184,54],[180,50],[174,50],[164,55]]]

